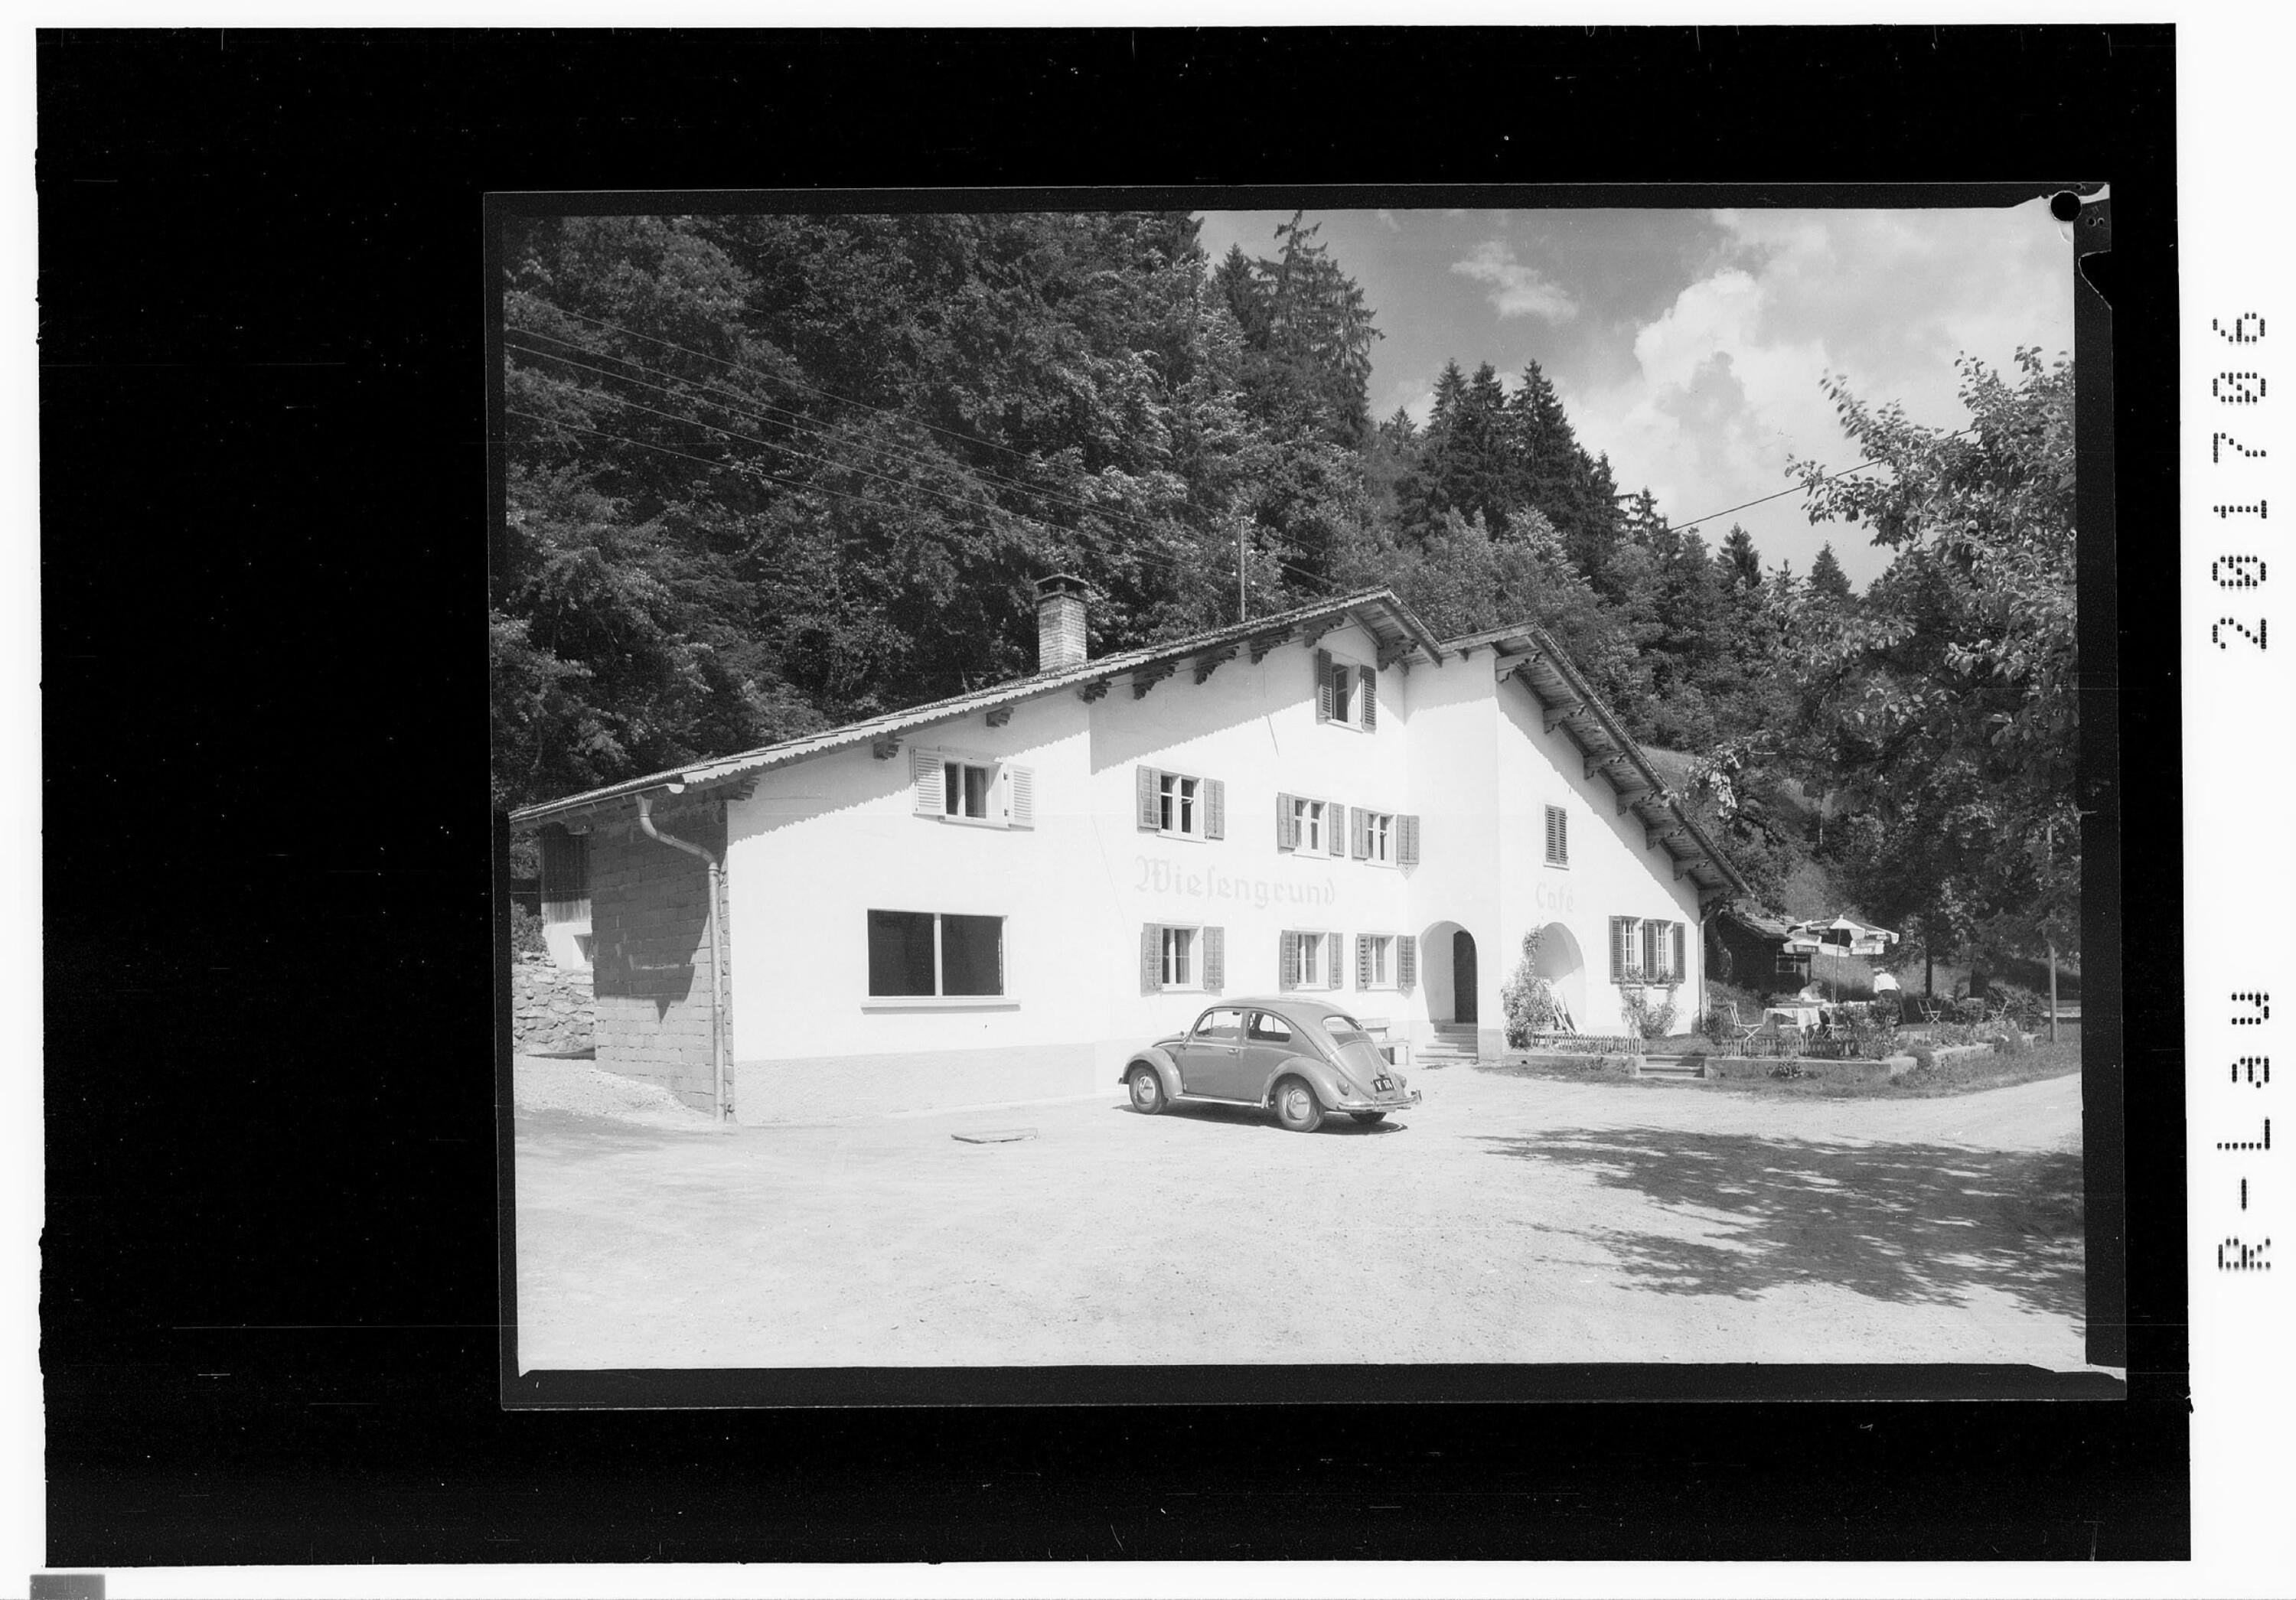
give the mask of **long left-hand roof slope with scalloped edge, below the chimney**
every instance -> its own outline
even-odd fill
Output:
[[[1435,643],[1435,634],[1428,631],[1428,627],[1414,618],[1401,599],[1396,599],[1394,590],[1362,590],[1357,595],[1341,595],[1339,599],[1325,599],[1313,606],[1300,606],[1297,611],[1279,611],[1270,618],[1231,622],[1228,627],[1219,627],[1208,634],[1192,634],[1189,638],[1173,640],[1169,645],[1123,650],[1114,657],[1095,657],[1054,673],[1015,677],[1013,682],[994,684],[990,689],[974,689],[971,693],[932,700],[930,705],[914,705],[905,712],[886,712],[884,716],[870,716],[859,723],[845,723],[843,728],[804,735],[799,739],[783,739],[781,744],[767,744],[739,755],[689,762],[684,767],[670,767],[643,778],[625,778],[622,783],[608,783],[581,794],[567,794],[565,799],[521,806],[510,813],[510,826],[533,829],[544,822],[560,822],[581,815],[620,813],[625,808],[634,810],[636,797],[645,790],[737,785],[746,778],[755,778],[760,771],[788,767],[790,762],[801,762],[813,755],[843,751],[856,744],[898,744],[902,737],[921,728],[930,728],[932,723],[946,723],[978,712],[994,712],[999,707],[1013,707],[1022,700],[1038,700],[1070,689],[1079,691],[1086,700],[1097,700],[1118,677],[1130,677],[1132,693],[1146,696],[1148,689],[1171,677],[1182,663],[1194,663],[1196,682],[1201,684],[1238,650],[1249,650],[1251,659],[1258,661],[1270,650],[1293,638],[1313,643],[1332,629],[1350,622],[1380,640],[1380,666],[1389,666],[1394,661],[1442,661],[1442,645]]]

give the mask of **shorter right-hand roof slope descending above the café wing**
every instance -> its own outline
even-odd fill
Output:
[[[1515,622],[1446,638],[1442,647],[1463,657],[1476,650],[1497,654],[1499,679],[1513,677],[1531,691],[1545,712],[1548,732],[1561,728],[1570,735],[1584,760],[1584,776],[1603,774],[1619,794],[1619,815],[1632,813],[1642,822],[1644,847],[1665,847],[1676,879],[1692,879],[1701,898],[1722,893],[1752,898],[1754,886],[1681,801],[1671,799],[1665,776],[1543,627]]]

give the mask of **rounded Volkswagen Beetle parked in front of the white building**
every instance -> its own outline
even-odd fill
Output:
[[[1327,1113],[1378,1123],[1419,1104],[1355,1017],[1297,994],[1205,1005],[1187,1033],[1132,1056],[1118,1081],[1143,1116],[1169,1104],[1263,1106],[1302,1134]]]

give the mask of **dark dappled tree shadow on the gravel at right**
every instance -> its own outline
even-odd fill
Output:
[[[2032,1311],[2082,1313],[2078,1152],[1665,1129],[1483,1143],[1584,1166],[1607,1187],[1697,1214],[1706,1237],[1589,1235],[1639,1288],[1752,1299],[1786,1283],[1839,1283],[1899,1304],[1991,1288]]]

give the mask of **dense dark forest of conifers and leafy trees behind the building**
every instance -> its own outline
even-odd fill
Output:
[[[1548,627],[1786,916],[1906,950],[2078,950],[2073,370],[1961,360],[1958,429],[1828,379],[1860,471],[1766,565],[1589,455],[1536,363],[1373,418],[1378,312],[1304,218],[510,218],[501,808],[1387,585],[1442,634]],[[1782,484],[1782,487],[1789,487]]]

